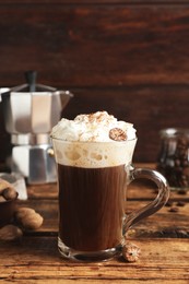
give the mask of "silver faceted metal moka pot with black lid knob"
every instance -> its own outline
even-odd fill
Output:
[[[29,185],[55,182],[56,163],[49,133],[73,95],[36,84],[34,71],[25,75],[27,84],[1,93],[5,130],[13,144],[11,170],[22,174]]]

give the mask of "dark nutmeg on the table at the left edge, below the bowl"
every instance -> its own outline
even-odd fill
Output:
[[[0,240],[15,240],[23,236],[22,229],[14,225],[7,225],[0,228]]]

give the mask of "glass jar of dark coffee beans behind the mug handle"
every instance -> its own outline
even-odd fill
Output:
[[[189,189],[189,129],[167,128],[161,131],[157,170],[172,189]]]

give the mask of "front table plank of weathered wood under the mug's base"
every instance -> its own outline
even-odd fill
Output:
[[[150,283],[189,280],[188,240],[141,239],[133,242],[142,251],[135,263],[126,263],[118,258],[85,264],[63,261],[58,255],[56,238],[24,238],[21,245],[0,244],[0,280],[149,280]]]

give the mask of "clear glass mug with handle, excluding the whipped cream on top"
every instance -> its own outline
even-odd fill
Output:
[[[131,169],[135,142],[68,142],[52,138],[59,185],[58,248],[64,258],[113,258],[121,252],[126,232],[166,203],[169,189],[160,173]],[[138,178],[153,180],[158,194],[143,209],[126,215],[127,185]]]

